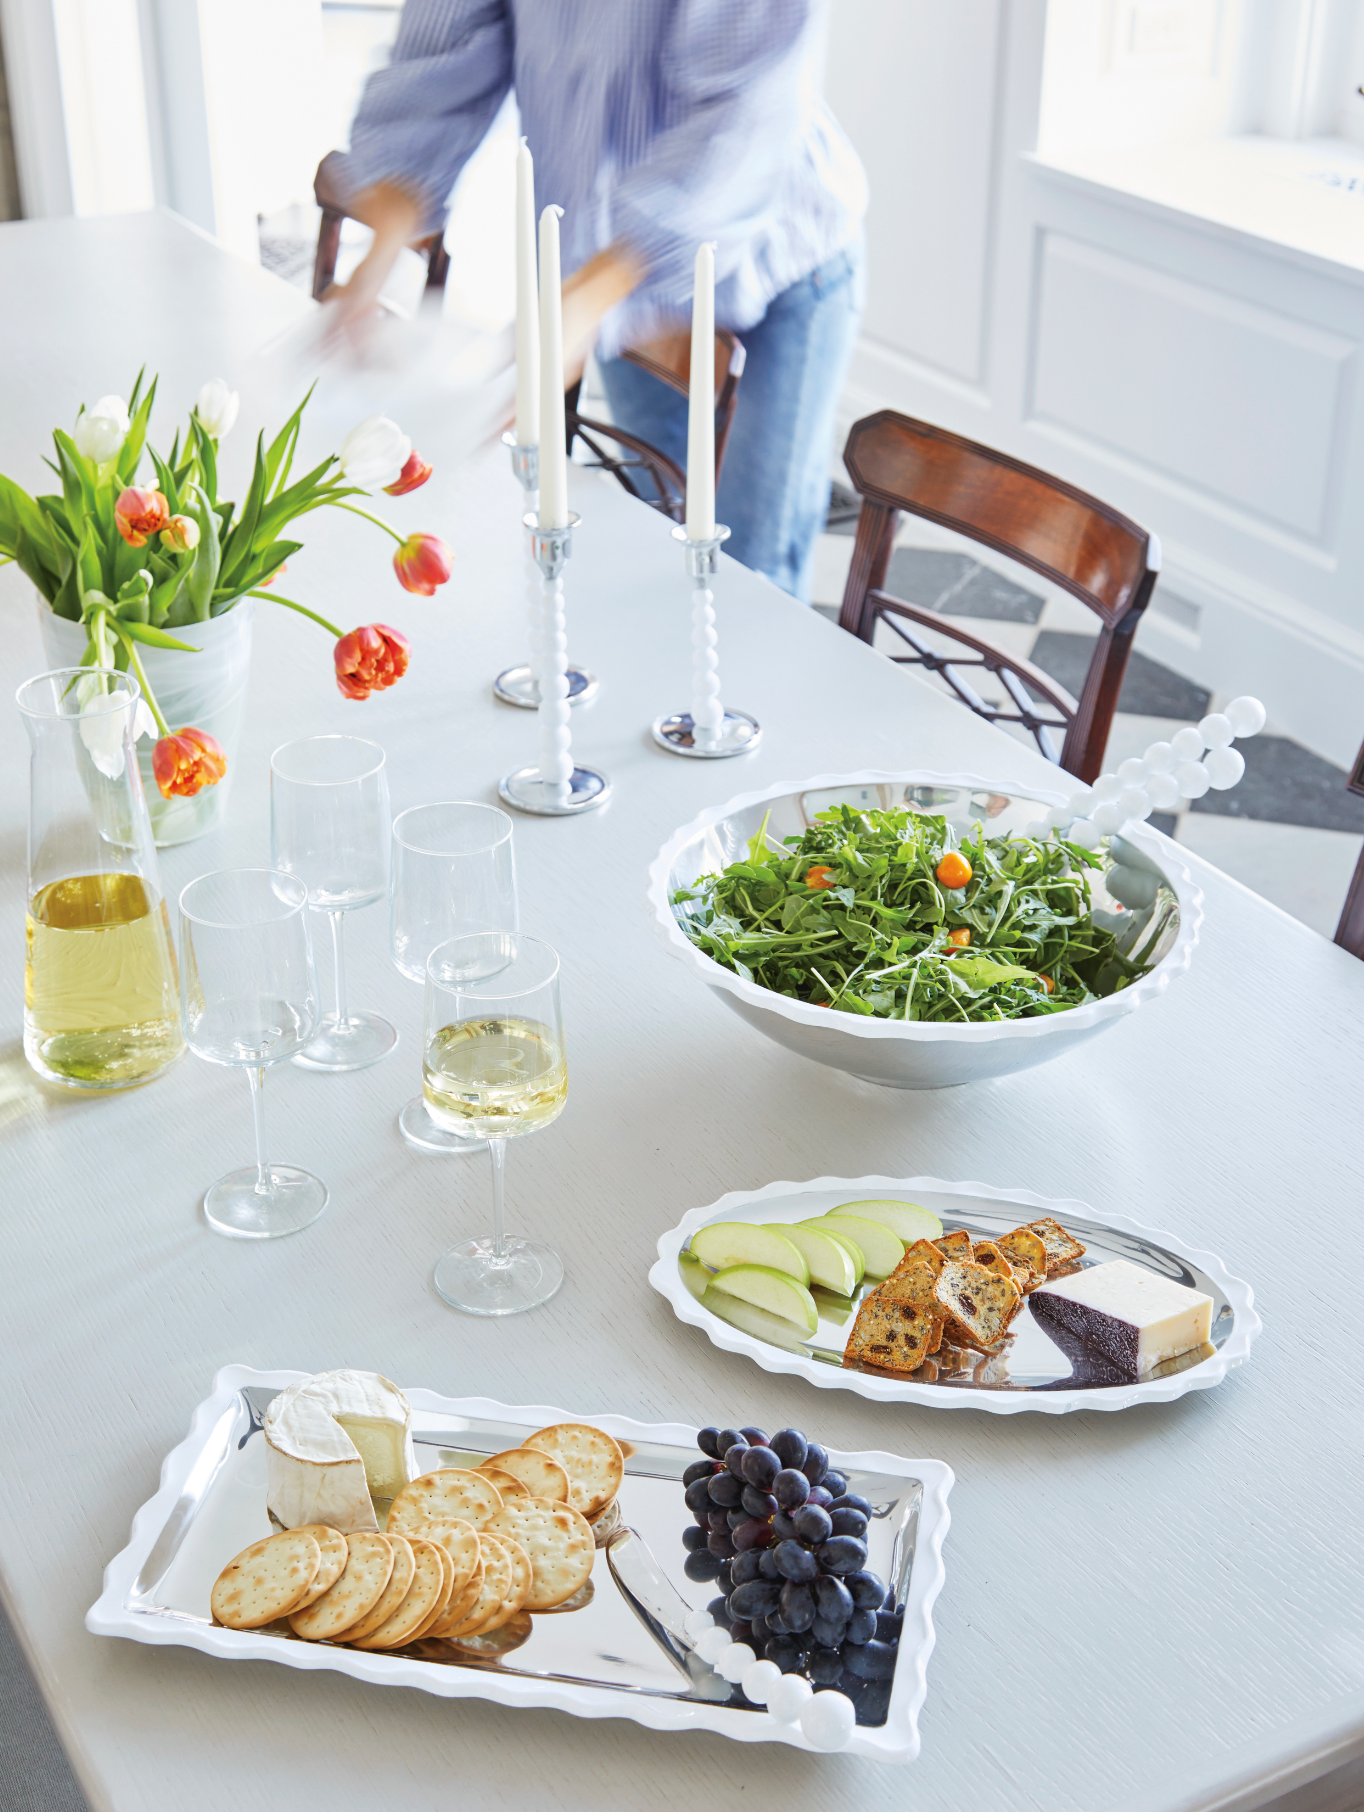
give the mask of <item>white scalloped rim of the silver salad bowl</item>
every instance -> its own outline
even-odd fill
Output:
[[[1005,794],[1013,799],[1036,799],[1040,805],[1065,805],[1069,797],[1069,794],[1049,792],[1045,786],[1033,786],[1027,781],[984,779],[978,774],[937,774],[931,768],[860,768],[855,774],[815,774],[806,781],[775,781],[772,786],[763,786],[757,792],[737,794],[725,805],[706,806],[705,812],[697,812],[690,824],[683,824],[681,830],[676,830],[668,837],[654,861],[648,864],[648,904],[654,908],[654,930],[663,937],[663,942],[676,957],[696,969],[706,986],[723,988],[737,1000],[744,1000],[748,1006],[761,1007],[768,1013],[781,1013],[784,1018],[795,1020],[799,1026],[830,1031],[830,1013],[826,1007],[815,1007],[806,1000],[790,1000],[786,995],[777,995],[770,988],[759,988],[757,982],[746,982],[741,975],[735,975],[721,962],[716,962],[714,957],[706,957],[706,953],[699,949],[677,924],[668,902],[668,875],[681,850],[699,832],[710,830],[712,824],[717,824],[721,819],[730,817],[735,812],[743,812],[752,805],[764,805],[768,799],[781,799],[788,794],[819,792],[831,786],[886,785],[969,786],[973,790]],[[1123,839],[1150,857],[1156,868],[1159,868],[1159,872],[1167,877],[1176,899],[1179,901],[1179,931],[1176,933],[1172,948],[1165,957],[1161,957],[1148,975],[1132,982],[1130,988],[1123,988],[1121,993],[1116,995],[1107,995],[1103,1000],[1090,1000],[1085,1006],[1071,1007],[1065,1013],[1047,1013],[1042,1018],[1031,1020],[993,1020],[962,1026],[956,1022],[906,1022],[871,1018],[862,1013],[842,1013],[839,1015],[835,1029],[848,1033],[853,1038],[909,1038],[922,1044],[937,1044],[942,1040],[951,1040],[953,1044],[994,1044],[1000,1038],[1045,1038],[1049,1033],[1058,1031],[1083,1031],[1089,1026],[1096,1026],[1100,1020],[1121,1018],[1127,1013],[1136,1013],[1145,1000],[1150,1000],[1154,995],[1163,995],[1174,977],[1183,975],[1185,969],[1188,969],[1194,957],[1194,946],[1197,944],[1199,928],[1203,924],[1203,890],[1197,886],[1194,875],[1179,861],[1179,857],[1170,853],[1174,844],[1168,841],[1157,843],[1156,832],[1147,830],[1145,824],[1129,824],[1123,830]]]

